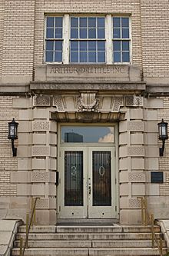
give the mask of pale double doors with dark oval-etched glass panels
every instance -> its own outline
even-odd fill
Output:
[[[59,218],[115,218],[114,147],[64,147]]]

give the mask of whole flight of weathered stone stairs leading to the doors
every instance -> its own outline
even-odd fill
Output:
[[[160,238],[160,228],[155,227]],[[12,256],[19,255],[19,239],[25,226],[18,228]],[[164,243],[164,254],[167,252]],[[141,256],[160,255],[151,248],[151,229],[143,226],[35,226],[29,234],[25,256]]]

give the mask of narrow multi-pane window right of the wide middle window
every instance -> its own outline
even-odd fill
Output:
[[[113,17],[113,62],[130,62],[129,18]]]

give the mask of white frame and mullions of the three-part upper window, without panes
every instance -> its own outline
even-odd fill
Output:
[[[79,63],[73,63],[69,61],[70,58],[70,31],[71,31],[71,17],[99,17],[98,14],[90,15],[90,14],[75,14],[75,15],[46,15],[45,16],[45,42],[44,42],[44,63],[50,64],[50,65],[56,65],[56,64],[64,64],[64,65],[130,65],[131,64],[131,15],[101,15],[101,17],[105,18],[105,63],[89,63],[89,62],[79,62]],[[46,55],[46,20],[47,17],[63,17],[63,45],[62,45],[62,62],[46,62],[45,61],[45,55]],[[129,18],[129,35],[130,35],[130,62],[113,62],[113,17],[120,17],[120,18]],[[118,38],[117,38],[118,40]]]

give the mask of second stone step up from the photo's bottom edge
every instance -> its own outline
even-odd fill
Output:
[[[14,246],[19,247],[20,241],[15,241]],[[88,241],[88,240],[74,240],[74,241],[28,241],[29,248],[151,248],[152,242],[150,240],[109,240],[109,241]],[[164,242],[165,246],[165,242]]]

